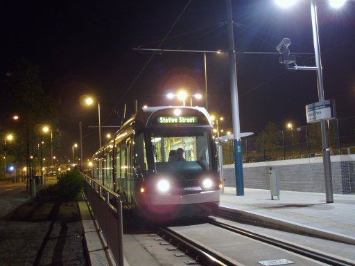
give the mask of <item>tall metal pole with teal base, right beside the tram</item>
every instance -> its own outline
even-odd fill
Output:
[[[236,172],[236,195],[244,195],[243,178],[243,158],[241,147],[241,128],[239,123],[239,102],[238,86],[236,82],[236,52],[234,51],[233,19],[232,19],[232,0],[226,0],[227,4],[227,27],[230,58],[230,90],[232,100],[232,121],[234,132],[234,167]]]

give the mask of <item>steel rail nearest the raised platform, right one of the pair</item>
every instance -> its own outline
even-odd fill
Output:
[[[234,227],[230,224],[225,224],[223,222],[217,222],[217,221],[209,222],[209,223],[216,226],[216,227],[220,227],[220,228],[226,229],[228,231],[232,231],[234,233],[239,233],[242,236],[246,236],[246,237],[252,238],[254,240],[259,240],[261,242],[265,242],[270,245],[280,247],[282,249],[286,249],[286,250],[291,251],[295,254],[299,254],[299,255],[305,256],[307,258],[312,258],[314,260],[318,260],[322,263],[327,263],[329,265],[334,265],[334,266],[355,266],[354,263],[349,262],[347,260],[342,260],[340,258],[334,258],[334,257],[329,256],[327,254],[322,254],[322,253],[319,253],[316,251],[310,251],[308,249],[305,249],[302,247],[297,247],[296,245],[292,245],[290,243],[283,242],[280,240],[275,240],[273,238],[269,238],[267,236],[263,236],[261,234],[254,233],[252,231],[248,231],[246,229]]]

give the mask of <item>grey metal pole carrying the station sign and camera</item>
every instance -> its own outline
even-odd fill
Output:
[[[317,67],[317,81],[318,81],[318,98],[319,101],[324,101],[323,91],[323,78],[322,78],[322,63],[320,61],[320,44],[318,35],[318,19],[317,8],[315,6],[315,0],[311,0],[311,17],[312,17],[312,30],[313,30],[313,45],[315,55],[315,66]],[[333,186],[331,181],[331,161],[330,150],[327,137],[327,122],[322,120],[320,122],[322,128],[322,157],[323,157],[323,169],[324,169],[324,182],[325,182],[325,197],[327,203],[334,202],[333,199]]]

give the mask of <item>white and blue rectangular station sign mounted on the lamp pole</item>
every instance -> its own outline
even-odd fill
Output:
[[[335,100],[324,100],[306,105],[307,123],[320,122],[336,118]]]

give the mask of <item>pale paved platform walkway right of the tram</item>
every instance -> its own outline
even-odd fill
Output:
[[[220,209],[355,245],[355,195],[334,194],[334,203],[325,203],[324,193],[280,191],[274,200],[270,190],[245,188],[244,194],[225,188]]]

